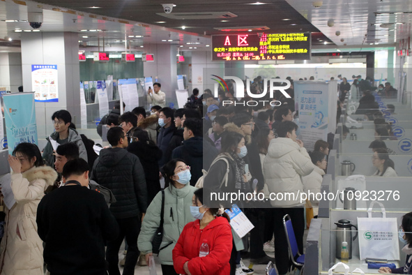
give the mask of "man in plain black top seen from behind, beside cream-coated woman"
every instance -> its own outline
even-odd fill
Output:
[[[51,274],[106,274],[105,242],[116,239],[119,226],[103,196],[92,191],[86,161],[63,168],[65,186],[45,195],[37,210],[38,235]]]

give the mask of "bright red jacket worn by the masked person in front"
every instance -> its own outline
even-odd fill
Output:
[[[205,241],[209,254],[200,258],[200,246]],[[178,274],[186,274],[183,265],[189,261],[192,275],[229,275],[231,248],[231,226],[226,218],[215,218],[203,230],[200,230],[199,220],[192,221],[185,225],[174,246],[174,269]]]

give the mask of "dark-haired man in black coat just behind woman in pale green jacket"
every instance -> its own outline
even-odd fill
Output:
[[[210,142],[204,142],[201,136],[201,119],[185,119],[183,122],[183,145],[173,150],[171,158],[181,158],[190,166],[190,185],[194,186],[201,177],[202,169],[206,171],[218,156],[216,149]]]

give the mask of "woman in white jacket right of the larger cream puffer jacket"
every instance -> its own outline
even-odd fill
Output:
[[[317,216],[319,212],[319,200],[316,200],[316,193],[321,193],[321,185],[323,174],[325,174],[326,155],[320,151],[310,153],[310,158],[314,164],[314,170],[308,176],[303,177],[303,190],[307,193],[307,198],[313,207],[313,216]]]

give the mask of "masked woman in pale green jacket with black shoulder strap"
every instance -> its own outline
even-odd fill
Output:
[[[179,159],[172,159],[162,167],[161,172],[165,177],[165,208],[163,223],[163,239],[160,244],[159,258],[163,274],[178,274],[174,271],[171,251],[173,250],[184,226],[193,221],[189,205],[196,188],[190,186],[190,167]],[[148,206],[143,219],[137,244],[139,250],[148,257],[153,255],[151,239],[160,226],[160,213],[162,208],[162,192],[155,196]]]

